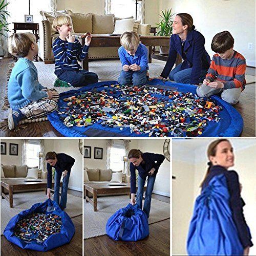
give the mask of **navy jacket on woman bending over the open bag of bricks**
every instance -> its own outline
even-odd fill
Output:
[[[65,153],[56,154],[57,163],[55,166],[51,166],[47,163],[47,188],[52,188],[52,167],[55,168],[55,172],[61,175],[65,170],[71,171],[71,167],[75,163],[75,159]]]

